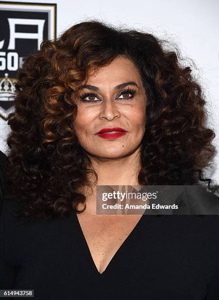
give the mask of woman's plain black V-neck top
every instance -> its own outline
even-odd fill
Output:
[[[143,215],[100,274],[75,211],[19,224],[15,206],[6,200],[0,216],[0,289],[34,289],[35,300],[219,300],[219,215]]]

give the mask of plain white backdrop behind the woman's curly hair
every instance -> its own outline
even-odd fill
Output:
[[[21,1],[20,1],[21,2]],[[39,3],[39,0],[22,2]],[[57,3],[57,36],[78,22],[98,19],[112,25],[127,25],[154,32],[179,45],[183,56],[192,58],[207,96],[209,125],[219,135],[219,1],[218,0],[44,0]],[[0,118],[0,150],[6,153],[7,123]],[[215,168],[207,175],[219,180],[219,153]]]

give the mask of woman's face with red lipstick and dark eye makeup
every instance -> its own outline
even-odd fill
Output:
[[[121,84],[124,85],[117,87]],[[132,154],[140,146],[146,118],[146,94],[133,62],[117,57],[90,75],[86,85],[89,86],[81,86],[78,98],[74,99],[78,106],[74,131],[79,144],[89,155],[98,158]],[[102,137],[96,134],[109,127],[123,128],[126,133]]]

